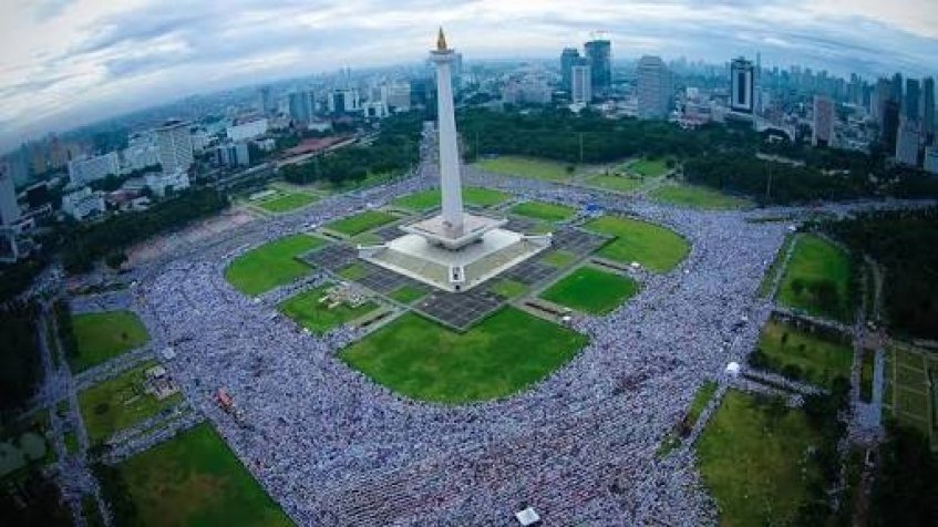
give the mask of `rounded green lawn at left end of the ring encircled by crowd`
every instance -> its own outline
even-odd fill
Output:
[[[259,294],[290,283],[309,272],[295,257],[324,245],[308,235],[292,235],[265,244],[237,258],[225,269],[225,279],[245,294]]]

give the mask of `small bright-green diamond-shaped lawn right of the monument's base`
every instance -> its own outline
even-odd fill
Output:
[[[540,298],[577,311],[606,314],[638,292],[629,277],[580,267],[540,293]]]

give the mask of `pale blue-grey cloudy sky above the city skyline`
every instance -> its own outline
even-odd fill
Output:
[[[938,0],[0,0],[0,152],[179,96],[414,62],[443,25],[466,60],[614,58],[938,75]]]

